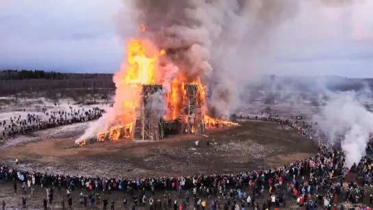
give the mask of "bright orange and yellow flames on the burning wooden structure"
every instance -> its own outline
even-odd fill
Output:
[[[138,27],[139,31],[145,31],[144,25]],[[166,51],[162,49],[153,55],[149,55],[149,49],[146,48],[147,42],[142,40],[130,40],[127,45],[127,61],[125,62],[125,68],[127,73],[123,78],[123,86],[133,88],[136,99],[123,102],[123,109],[126,111],[126,117],[122,120],[120,127],[114,127],[110,131],[105,131],[97,136],[98,142],[104,142],[105,138],[109,140],[119,140],[120,137],[131,137],[134,126],[134,119],[136,116],[136,109],[140,107],[140,85],[151,84],[151,83],[162,83],[162,80],[157,79],[157,70],[159,57],[166,55]],[[146,51],[148,50],[148,51]],[[196,78],[193,81],[187,79],[185,75],[179,73],[177,77],[171,82],[171,90],[166,94],[166,103],[170,112],[164,120],[178,120],[180,116],[185,116],[185,99],[186,90],[184,90],[185,83],[192,83],[198,86],[196,103],[201,107],[204,118],[202,119],[205,127],[222,127],[231,126],[237,124],[227,120],[219,120],[210,118],[204,114],[205,110],[203,105],[205,103],[205,86],[201,83],[200,78]],[[138,95],[138,96],[137,96]],[[183,118],[184,122],[188,122],[188,118]],[[196,133],[196,127],[192,125],[192,133]],[[81,144],[86,144],[82,142]]]

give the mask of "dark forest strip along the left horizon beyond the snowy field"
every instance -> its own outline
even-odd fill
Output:
[[[44,96],[79,99],[86,95],[108,96],[115,90],[112,74],[56,73],[44,70],[0,71],[0,96]]]

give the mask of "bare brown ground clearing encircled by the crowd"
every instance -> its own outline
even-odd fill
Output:
[[[209,142],[214,144],[207,145]],[[198,146],[196,146],[198,141]],[[73,138],[42,139],[5,148],[0,159],[18,169],[86,176],[181,176],[281,166],[317,152],[311,140],[272,122],[240,122],[206,135],[170,135],[154,142],[120,140],[71,148]]]

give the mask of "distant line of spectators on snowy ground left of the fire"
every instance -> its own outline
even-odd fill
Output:
[[[0,140],[2,142],[18,134],[25,135],[66,124],[97,120],[104,112],[105,110],[99,107],[74,109],[70,106],[67,111],[48,111],[47,108],[42,108],[42,113],[27,114],[26,118],[18,115],[10,117],[10,120],[1,120],[0,127],[3,127],[3,132],[0,134]]]

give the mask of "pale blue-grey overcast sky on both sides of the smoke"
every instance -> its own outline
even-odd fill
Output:
[[[123,8],[120,0],[0,0],[0,69],[114,73],[124,50],[114,16]],[[372,8],[373,0],[318,10],[303,3],[276,31],[263,68],[276,75],[373,77]]]

